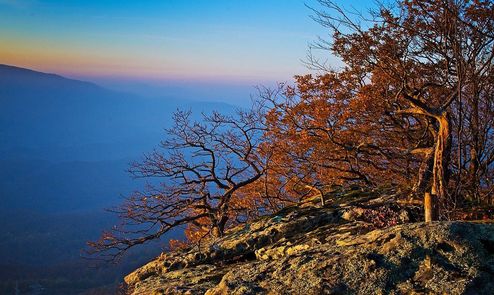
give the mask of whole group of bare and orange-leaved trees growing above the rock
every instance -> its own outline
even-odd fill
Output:
[[[430,204],[427,221],[492,204],[494,5],[376,2],[363,13],[319,0],[330,38],[310,45],[316,75],[260,88],[237,116],[178,112],[165,152],[129,170],[159,177],[113,208],[121,227],[90,242],[102,261],[187,226],[191,240],[335,186],[392,183]],[[329,50],[343,67],[321,62]],[[137,226],[128,229],[128,226]],[[113,251],[113,252],[112,252]]]

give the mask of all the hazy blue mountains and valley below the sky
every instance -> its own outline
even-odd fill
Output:
[[[13,294],[16,280],[22,294],[35,283],[46,294],[114,294],[124,274],[163,251],[156,243],[97,270],[79,257],[85,240],[117,221],[102,208],[143,185],[124,169],[165,139],[177,108],[192,109],[193,119],[235,110],[0,65],[0,294]]]

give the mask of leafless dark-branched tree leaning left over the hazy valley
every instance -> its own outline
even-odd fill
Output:
[[[199,238],[219,237],[228,225],[245,222],[252,203],[234,201],[263,177],[270,157],[261,145],[262,108],[236,116],[214,112],[204,115],[202,123],[190,121],[191,111],[175,113],[174,126],[166,130],[169,139],[161,143],[164,151],[144,155],[128,170],[136,178],[157,177],[159,184],[148,182],[144,191],[136,190],[123,205],[109,209],[121,223],[87,243],[96,266],[119,262],[131,247],[158,240],[176,227],[189,226]],[[251,201],[269,211],[265,198]]]

